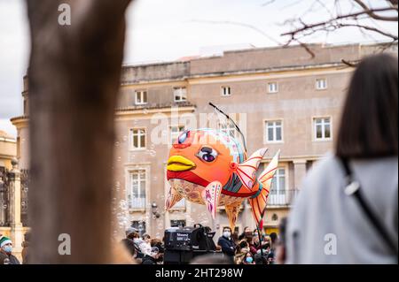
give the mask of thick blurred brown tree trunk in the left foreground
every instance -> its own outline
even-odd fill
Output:
[[[113,114],[129,1],[27,0],[30,263],[111,262]],[[60,4],[71,7],[70,26],[59,25]],[[59,254],[63,233],[71,255]]]

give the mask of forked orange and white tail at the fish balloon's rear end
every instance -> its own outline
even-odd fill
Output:
[[[249,204],[252,207],[252,214],[256,225],[262,229],[263,221],[262,218],[266,211],[266,204],[269,199],[271,180],[278,168],[278,159],[280,156],[280,151],[272,158],[270,164],[261,173],[258,178],[260,185],[259,192],[249,199]]]

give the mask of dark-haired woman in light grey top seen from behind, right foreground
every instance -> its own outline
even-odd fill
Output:
[[[354,72],[334,154],[313,165],[286,231],[286,263],[397,263],[398,58]]]

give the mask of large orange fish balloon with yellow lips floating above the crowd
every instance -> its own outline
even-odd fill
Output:
[[[170,149],[167,178],[170,184],[165,209],[170,210],[183,198],[207,205],[215,218],[216,208],[225,206],[234,230],[241,203],[249,199],[257,226],[270,192],[271,179],[278,167],[279,151],[257,177],[267,149],[259,149],[249,158],[237,139],[215,129],[188,130]]]

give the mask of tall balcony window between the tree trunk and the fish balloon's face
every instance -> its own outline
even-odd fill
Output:
[[[129,209],[145,209],[145,170],[130,171],[129,173]]]

